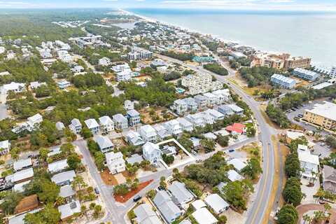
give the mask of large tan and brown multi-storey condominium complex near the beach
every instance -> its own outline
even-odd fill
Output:
[[[260,53],[255,55],[251,66],[267,66],[274,69],[296,69],[310,66],[311,59],[308,57],[293,57],[288,54],[274,55]]]

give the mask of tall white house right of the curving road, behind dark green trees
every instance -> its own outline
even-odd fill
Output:
[[[314,177],[313,172],[318,174],[318,166],[320,165],[318,155],[313,155],[310,151],[297,151],[297,155],[299,157],[302,176],[304,178]]]

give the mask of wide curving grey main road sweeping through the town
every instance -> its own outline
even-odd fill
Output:
[[[265,216],[265,211],[267,209],[267,202],[270,200],[272,186],[273,186],[273,178],[275,174],[274,169],[274,147],[272,144],[272,134],[276,134],[276,130],[274,130],[273,127],[270,127],[267,125],[265,118],[263,118],[262,113],[259,109],[258,102],[255,102],[255,100],[250,97],[248,94],[246,94],[241,88],[235,83],[232,83],[230,80],[227,79],[225,76],[218,76],[216,73],[212,73],[210,71],[207,71],[203,69],[201,66],[194,66],[191,64],[186,64],[184,62],[181,62],[177,59],[172,59],[170,57],[165,57],[162,55],[155,55],[157,57],[160,57],[162,59],[165,59],[170,62],[176,62],[179,64],[182,64],[183,66],[188,67],[189,69],[193,69],[195,71],[201,72],[201,73],[211,73],[211,75],[215,76],[217,80],[222,81],[223,83],[226,83],[232,87],[232,90],[234,90],[241,99],[250,106],[251,110],[254,113],[255,119],[258,121],[259,125],[259,131],[262,133],[260,136],[260,141],[262,141],[262,176],[259,181],[259,187],[258,187],[258,193],[257,193],[257,199],[255,202],[253,202],[253,206],[248,212],[248,218],[246,223],[248,224],[259,224],[262,223],[262,219]],[[221,63],[223,66],[225,66],[224,63]],[[228,68],[228,66],[225,66],[226,69],[229,71],[229,76],[233,76],[235,71]],[[279,150],[279,148],[278,148]],[[279,195],[276,195],[279,197]],[[279,200],[279,199],[278,199]]]

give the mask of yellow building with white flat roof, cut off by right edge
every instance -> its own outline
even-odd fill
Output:
[[[305,110],[303,120],[324,127],[328,130],[336,129],[336,104],[323,102],[315,104],[314,109]]]

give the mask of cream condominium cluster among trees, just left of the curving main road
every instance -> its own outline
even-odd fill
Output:
[[[188,94],[203,94],[206,92],[220,90],[223,88],[223,83],[212,81],[210,74],[194,74],[182,78],[181,85],[188,87]]]

